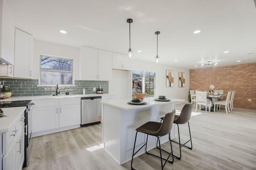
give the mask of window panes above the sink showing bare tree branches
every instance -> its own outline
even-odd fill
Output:
[[[40,56],[40,85],[73,85],[73,59]]]

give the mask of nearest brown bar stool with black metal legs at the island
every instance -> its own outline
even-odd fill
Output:
[[[172,129],[172,124],[173,124],[175,112],[176,111],[174,109],[172,112],[166,113],[166,115],[163,118],[163,123],[149,121],[149,122],[145,123],[144,125],[141,125],[140,127],[138,127],[136,129],[137,132],[136,132],[135,141],[134,141],[134,147],[133,147],[133,152],[132,152],[132,161],[133,161],[133,156],[136,153],[138,153],[138,151],[140,149],[142,149],[146,145],[146,149],[145,149],[146,150],[146,154],[150,154],[150,155],[156,156],[156,157],[161,159],[162,170],[163,170],[164,166],[166,165],[167,161],[170,162],[170,163],[173,163],[172,142],[170,140],[171,139],[170,138],[170,131]],[[146,143],[139,150],[137,150],[134,153],[135,144],[136,144],[136,138],[137,138],[137,133],[138,132],[147,134],[147,139],[146,139]],[[169,153],[168,158],[164,159],[164,158],[162,158],[161,145],[160,145],[160,139],[159,138],[164,136],[164,135],[167,135],[167,134],[169,134],[169,141],[170,141],[170,146],[171,146],[171,152]],[[157,141],[159,141],[159,147],[160,147],[160,156],[157,156],[157,155],[154,155],[154,154],[151,154],[151,153],[147,152],[148,135],[152,135],[152,136],[157,137],[157,139],[158,139]],[[169,161],[168,159],[170,158],[171,155],[172,155],[172,161]],[[164,165],[163,165],[163,160],[165,160]],[[131,162],[131,169],[135,170],[132,167],[132,162]]]

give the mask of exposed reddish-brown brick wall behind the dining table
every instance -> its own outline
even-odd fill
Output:
[[[236,91],[234,107],[256,109],[256,63],[190,70],[190,89]],[[252,101],[248,101],[252,99]]]

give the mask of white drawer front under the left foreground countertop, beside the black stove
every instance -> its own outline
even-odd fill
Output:
[[[3,133],[2,138],[3,138],[3,155],[7,154],[8,150],[10,149],[12,143],[16,139],[16,135],[20,130],[24,128],[24,114],[21,114],[15,121],[15,123],[10,127],[10,130],[7,133]]]

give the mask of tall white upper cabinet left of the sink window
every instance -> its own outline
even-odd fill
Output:
[[[33,36],[15,28],[14,77],[32,78]]]

